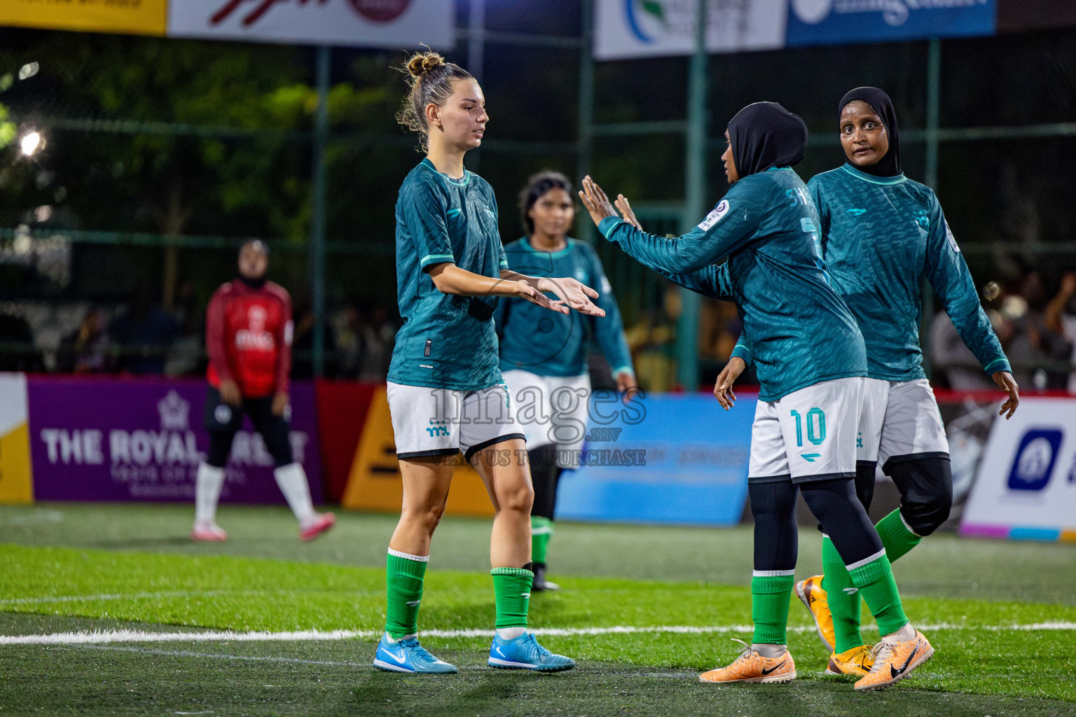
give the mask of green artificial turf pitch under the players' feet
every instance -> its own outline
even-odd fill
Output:
[[[370,666],[384,620],[380,565],[391,517],[343,515],[310,545],[282,511],[226,507],[222,522],[232,540],[206,546],[186,540],[189,511],[178,506],[0,508],[0,634],[126,628],[364,636],[0,645],[0,715],[1076,715],[1076,631],[1013,629],[1076,623],[1074,546],[924,541],[895,572],[936,655],[895,688],[855,694],[849,682],[824,675],[826,651],[794,599],[795,683],[696,682],[699,671],[735,657],[731,637],[750,641],[741,631],[750,623],[741,573],[750,570],[749,530],[558,526],[551,562],[564,589],[533,598],[536,629],[722,630],[543,635],[580,663],[553,676],[489,670],[487,636],[427,636],[424,645],[462,668],[430,678]],[[492,629],[487,540],[487,521],[442,526],[421,629]],[[813,572],[816,548],[812,531],[804,531],[801,577]]]

